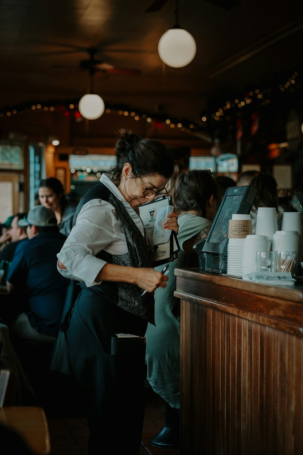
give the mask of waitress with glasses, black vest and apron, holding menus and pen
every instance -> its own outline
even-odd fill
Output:
[[[166,194],[173,157],[163,143],[119,131],[117,163],[81,199],[75,224],[57,255],[58,270],[81,292],[66,315],[66,335],[89,425],[89,455],[117,435],[139,454],[145,406],[144,337],[154,324],[154,290],[168,278],[153,268],[140,205]],[[178,232],[177,213],[164,228]],[[142,296],[143,289],[147,292]],[[142,340],[141,340],[142,341]],[[144,346],[144,347],[143,347]],[[119,428],[119,430],[117,430]]]

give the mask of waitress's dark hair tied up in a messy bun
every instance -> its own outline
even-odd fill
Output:
[[[169,178],[174,172],[172,153],[157,139],[142,139],[133,131],[121,129],[114,150],[117,164],[110,168],[109,173],[115,182],[120,180],[127,162],[131,164],[133,173],[137,172],[140,177],[159,174]]]

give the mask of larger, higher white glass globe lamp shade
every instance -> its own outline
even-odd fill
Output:
[[[193,36],[181,28],[167,30],[158,43],[160,59],[173,68],[188,65],[194,59],[196,49]]]

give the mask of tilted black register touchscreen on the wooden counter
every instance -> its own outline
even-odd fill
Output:
[[[227,188],[202,251],[219,255],[220,244],[228,237],[229,220],[233,213],[248,214],[257,193],[258,189],[253,185]]]

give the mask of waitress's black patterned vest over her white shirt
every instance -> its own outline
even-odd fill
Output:
[[[98,182],[81,199],[75,212],[73,225],[76,223],[81,208],[92,199],[102,199],[114,207],[124,227],[128,248],[128,253],[114,255],[101,250],[96,254],[96,258],[126,267],[152,267],[150,252],[139,228],[129,216],[122,202],[103,183]],[[98,210],[98,208],[96,207],[95,210]],[[100,207],[100,210],[102,210],[102,207]],[[110,294],[111,298],[113,298],[119,307],[155,325],[154,293],[145,293],[142,297],[143,290],[139,286],[131,283],[111,281],[103,281],[99,285],[91,286],[89,289],[93,289],[100,294]]]

